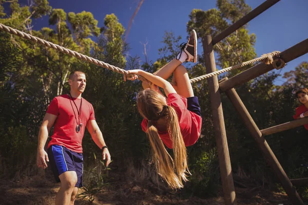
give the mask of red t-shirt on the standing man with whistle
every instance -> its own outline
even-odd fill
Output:
[[[79,109],[81,99],[73,98],[73,100]],[[87,122],[88,120],[95,119],[95,116],[93,106],[82,98],[81,122],[83,126],[80,132],[77,133],[75,130],[77,126],[76,119],[78,120],[76,106],[69,98],[68,94],[53,98],[47,109],[47,113],[56,115],[57,118],[53,125],[53,135],[51,136],[48,148],[51,145],[61,145],[74,152],[82,153],[82,138],[85,133]]]

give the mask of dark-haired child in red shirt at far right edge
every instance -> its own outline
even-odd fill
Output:
[[[303,88],[295,93],[297,99],[302,104],[296,108],[296,113],[293,115],[294,119],[308,117],[308,89]],[[308,130],[308,124],[304,125],[305,129]]]

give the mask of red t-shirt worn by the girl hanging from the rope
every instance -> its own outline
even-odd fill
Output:
[[[185,146],[194,145],[201,134],[202,117],[187,110],[187,99],[177,93],[170,93],[167,98],[167,105],[174,108],[178,114],[180,130]],[[141,128],[147,130],[148,120],[143,119]],[[158,130],[164,144],[172,149],[172,141],[168,132]]]

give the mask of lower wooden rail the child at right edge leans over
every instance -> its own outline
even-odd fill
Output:
[[[297,128],[299,126],[306,125],[306,124],[308,124],[308,117],[304,117],[304,118],[301,118],[301,119],[296,119],[296,120],[293,120],[293,121],[285,122],[284,124],[277,125],[277,126],[274,126],[274,127],[271,127],[271,128],[266,128],[264,130],[261,130],[261,133],[262,133],[263,136],[266,136],[266,135],[274,134],[274,133],[277,133],[277,132],[290,130],[292,128]]]

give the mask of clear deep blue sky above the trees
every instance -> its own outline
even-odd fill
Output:
[[[21,2],[27,2],[26,0]],[[264,1],[246,0],[246,3],[256,8]],[[139,4],[139,0],[49,0],[52,8],[62,8],[65,12],[90,11],[99,21],[98,26],[104,26],[106,14],[114,13],[119,22],[128,27],[129,20]],[[158,49],[165,31],[173,31],[176,36],[181,35],[186,41],[186,24],[192,9],[208,10],[216,7],[216,0],[144,0],[138,14],[134,17],[127,43],[130,44],[130,55],[143,55],[143,45],[148,41],[147,55],[149,60],[155,61]],[[249,33],[255,33],[256,53],[261,56],[272,51],[283,51],[308,37],[307,0],[281,0],[261,15],[249,22]],[[35,20],[34,29],[48,26],[48,17]],[[201,49],[201,44],[198,47]],[[201,54],[201,52],[199,52]],[[302,61],[308,61],[305,54],[288,63],[281,73],[290,71]],[[106,62],[108,63],[108,62]],[[283,79],[276,80],[276,84],[283,83]]]

